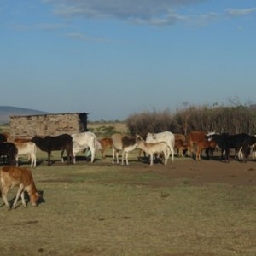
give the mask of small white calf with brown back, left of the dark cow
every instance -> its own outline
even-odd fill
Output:
[[[28,159],[31,160],[31,167],[37,166],[37,145],[32,142],[28,143],[15,143],[16,148],[18,149],[18,154],[16,156],[16,165],[18,165],[19,156],[22,154],[28,154]]]

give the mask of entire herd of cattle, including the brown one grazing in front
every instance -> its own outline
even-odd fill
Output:
[[[37,148],[47,153],[48,165],[51,165],[51,152],[61,151],[61,161],[63,155],[67,154],[67,162],[69,164],[76,163],[76,154],[88,150],[90,152],[90,161],[95,161],[96,151],[101,151],[102,159],[105,159],[105,151],[112,148],[113,164],[119,163],[119,154],[121,154],[121,164],[129,164],[129,153],[139,148],[139,159],[141,153],[148,155],[148,163],[150,166],[154,164],[154,160],[161,160],[163,164],[167,164],[168,158],[171,156],[174,160],[175,150],[177,156],[183,157],[186,154],[195,160],[201,160],[202,151],[205,150],[207,159],[210,159],[214,150],[220,150],[220,159],[225,162],[230,160],[230,149],[235,152],[235,157],[239,161],[247,161],[252,154],[254,159],[256,148],[256,136],[246,133],[230,135],[227,133],[218,134],[216,132],[191,131],[188,136],[183,134],[174,134],[171,131],[163,131],[159,133],[148,133],[147,137],[140,135],[128,136],[125,134],[115,133],[111,137],[103,137],[97,139],[96,135],[90,131],[84,131],[77,134],[61,134],[59,136],[32,137],[32,139],[15,138],[12,142],[5,134],[0,134],[0,157],[3,166],[0,168],[0,195],[2,194],[5,205],[10,208],[7,200],[9,189],[18,186],[18,192],[12,205],[16,207],[16,203],[21,196],[22,203],[26,207],[24,199],[24,191],[28,192],[30,201],[33,206],[38,205],[40,195],[36,189],[32,179],[32,172],[25,167],[19,167],[19,156],[27,155],[31,160],[31,167],[37,166]]]

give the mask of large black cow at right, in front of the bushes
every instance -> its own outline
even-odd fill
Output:
[[[212,134],[207,136],[208,140],[213,140],[218,144],[218,147],[222,150],[224,160],[230,160],[230,148],[234,148],[241,152],[245,159],[250,154],[250,136],[247,133],[239,133],[236,135],[229,135],[227,133]]]

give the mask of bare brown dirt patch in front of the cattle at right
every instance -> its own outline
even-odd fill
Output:
[[[177,183],[202,186],[207,183],[227,183],[237,186],[256,185],[256,160],[239,162],[231,159],[225,163],[216,157],[214,160],[195,161],[192,158],[175,158],[174,162],[169,159],[167,166],[155,163],[149,166],[146,162],[130,160],[129,166],[124,166],[125,173],[154,172],[162,178],[150,181],[152,186],[172,186]],[[96,165],[105,166],[105,161],[96,161]],[[148,181],[149,182],[149,181]],[[149,185],[149,183],[148,183]]]

